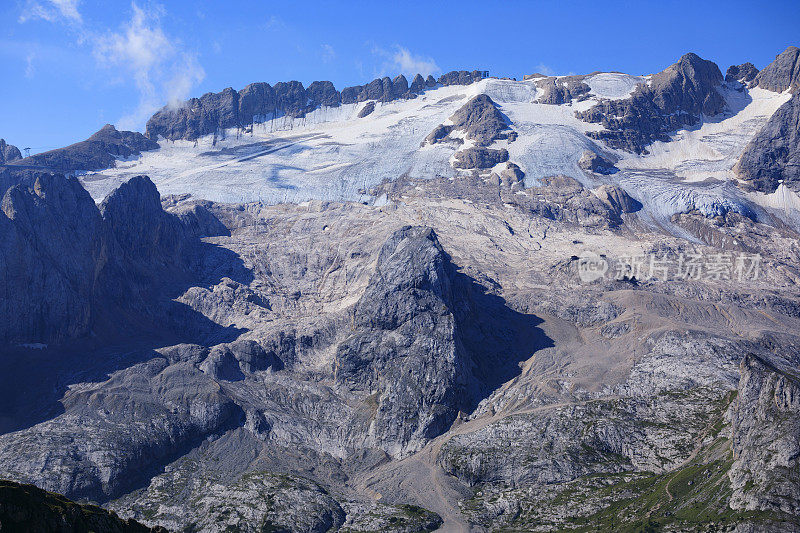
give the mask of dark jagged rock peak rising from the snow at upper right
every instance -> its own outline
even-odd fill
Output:
[[[650,143],[669,141],[669,132],[697,124],[703,115],[721,113],[725,109],[717,91],[721,82],[717,65],[690,53],[654,74],[649,84],[639,85],[630,98],[603,101],[576,116],[603,125],[604,130],[587,133],[593,139],[645,153]]]

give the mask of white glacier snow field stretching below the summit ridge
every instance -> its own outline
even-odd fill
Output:
[[[131,176],[147,174],[161,194],[190,193],[217,202],[375,202],[378,199],[368,191],[385,180],[457,177],[451,161],[460,147],[421,144],[469,98],[485,93],[519,134],[514,142],[497,141],[492,147],[508,149],[510,160],[525,172],[528,187],[557,174],[587,187],[616,183],[642,202],[645,218],[657,224],[692,209],[709,216],[728,210],[774,211],[773,201],[748,196],[730,183],[735,179],[731,169],[750,138],[790,96],[723,85],[728,112],[675,132],[670,142],[654,143],[644,156],[611,150],[586,136],[602,127],[578,120],[575,111],[601,98],[625,98],[646,79],[594,74],[585,79],[591,98],[559,106],[533,103],[538,89],[532,81],[490,78],[468,86],[438,87],[412,100],[378,103],[364,118],[357,117],[364,103],[321,108],[302,119],[282,117],[256,124],[248,133],[232,129],[216,143],[211,135],[197,142],[161,140],[159,150],[83,176],[82,182],[98,201]],[[609,176],[583,172],[577,161],[584,150],[618,160],[620,171]],[[781,206],[794,210],[798,202],[789,199]]]

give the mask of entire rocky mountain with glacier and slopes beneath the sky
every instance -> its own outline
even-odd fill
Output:
[[[798,49],[747,59],[0,140],[0,530],[800,531]]]

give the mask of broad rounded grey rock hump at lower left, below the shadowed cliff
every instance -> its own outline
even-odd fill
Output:
[[[3,476],[103,502],[135,488],[154,465],[243,418],[213,379],[160,358],[115,374],[109,389],[95,392],[68,394],[65,414],[4,435]],[[78,435],[91,435],[91,444]]]

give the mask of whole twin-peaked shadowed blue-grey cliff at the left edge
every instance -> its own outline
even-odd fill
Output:
[[[138,176],[100,205],[77,179],[27,172],[5,191],[0,343],[83,337],[98,320],[142,309],[184,269],[191,230],[165,213],[155,185]],[[206,225],[209,225],[206,220]],[[119,325],[119,324],[118,324]]]

